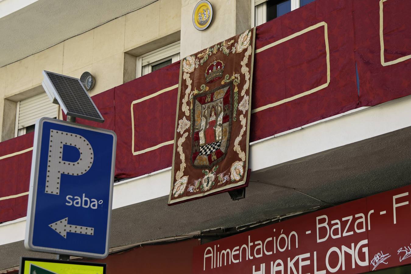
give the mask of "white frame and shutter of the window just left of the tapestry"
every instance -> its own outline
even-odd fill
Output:
[[[180,60],[180,41],[137,57],[136,78],[149,74],[152,66],[169,59],[171,59],[171,63]]]

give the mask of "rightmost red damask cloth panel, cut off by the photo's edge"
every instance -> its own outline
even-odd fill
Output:
[[[361,106],[411,94],[409,0],[354,1]]]

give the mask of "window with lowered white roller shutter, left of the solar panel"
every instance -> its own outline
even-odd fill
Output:
[[[58,116],[58,105],[51,103],[46,92],[17,102],[16,130],[14,136],[34,131],[36,121],[41,117]]]

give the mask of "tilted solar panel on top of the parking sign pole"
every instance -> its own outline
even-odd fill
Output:
[[[104,122],[96,105],[88,95],[80,79],[43,71],[43,87],[53,103],[60,104],[63,111],[73,117]],[[57,99],[57,102],[56,102]]]

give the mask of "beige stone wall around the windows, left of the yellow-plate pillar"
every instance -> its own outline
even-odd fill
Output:
[[[160,47],[156,48],[158,43],[153,44],[152,41],[161,41],[162,37],[179,34],[180,12],[181,0],[158,0],[23,60],[1,67],[1,140],[8,139],[14,127],[14,102],[42,92],[43,70],[76,78],[80,78],[84,71],[89,71],[96,79],[90,95],[121,85],[133,79],[133,68],[131,72],[125,68],[125,63],[132,63],[133,57],[127,54],[125,56],[125,52],[145,44],[151,45],[146,51],[152,51]]]

